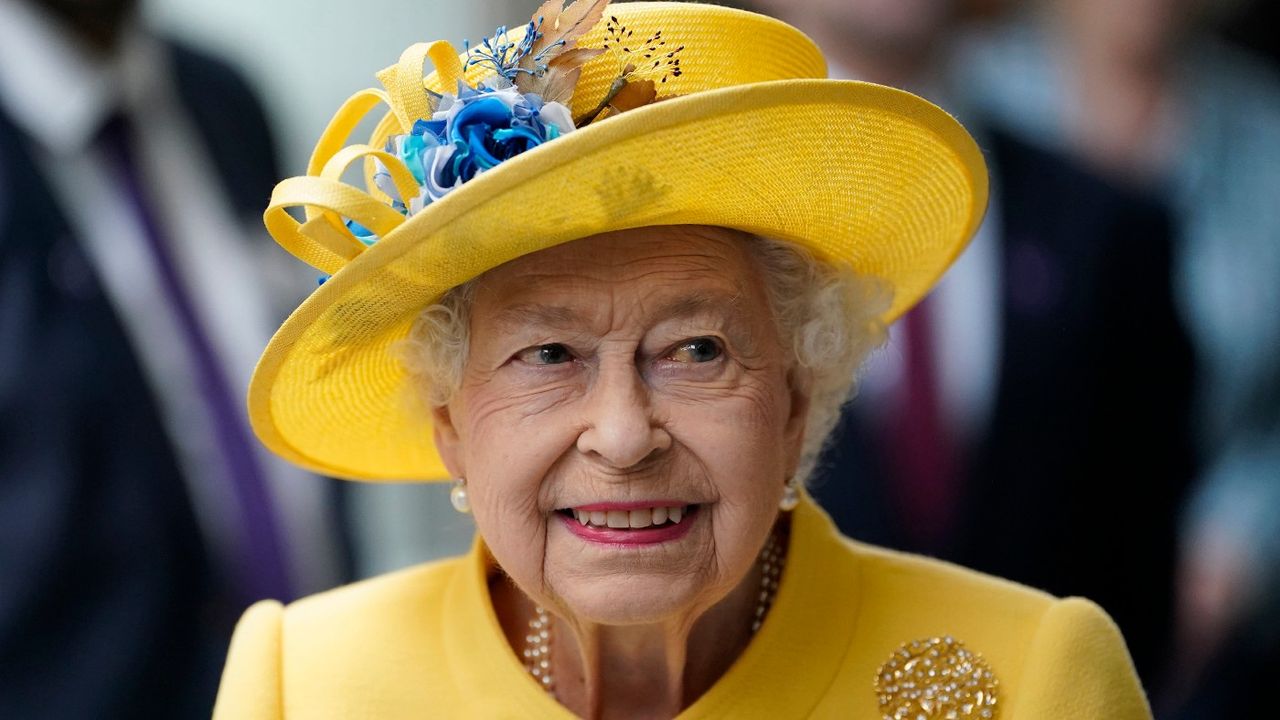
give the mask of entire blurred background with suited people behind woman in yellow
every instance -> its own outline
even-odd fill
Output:
[[[744,0],[957,115],[978,237],[865,369],[854,538],[1100,602],[1157,717],[1274,716],[1280,28],[1262,0]],[[465,551],[444,484],[243,418],[316,283],[261,227],[352,92],[513,0],[0,0],[0,717],[207,717],[256,598]]]

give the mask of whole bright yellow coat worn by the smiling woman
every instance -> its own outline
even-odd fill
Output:
[[[572,717],[507,644],[492,571],[477,541],[462,557],[255,605],[215,720]],[[879,719],[882,666],[934,637],[980,655],[998,682],[995,720],[1151,717],[1124,639],[1092,602],[852,542],[805,500],[767,621],[680,719]]]

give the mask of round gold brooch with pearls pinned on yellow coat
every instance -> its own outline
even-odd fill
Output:
[[[905,643],[876,673],[884,720],[995,720],[998,685],[987,661],[951,637]]]

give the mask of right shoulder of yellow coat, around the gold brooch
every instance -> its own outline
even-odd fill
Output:
[[[856,638],[814,716],[847,717],[904,644],[954,638],[980,655],[997,687],[997,720],[1148,720],[1124,638],[1096,603],[933,559],[844,539],[860,568]],[[872,716],[872,715],[868,715]],[[974,715],[977,717],[977,715]]]

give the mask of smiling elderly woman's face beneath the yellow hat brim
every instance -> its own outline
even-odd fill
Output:
[[[700,614],[751,568],[796,468],[808,397],[787,357],[739,234],[575,241],[481,278],[436,446],[536,602]]]

